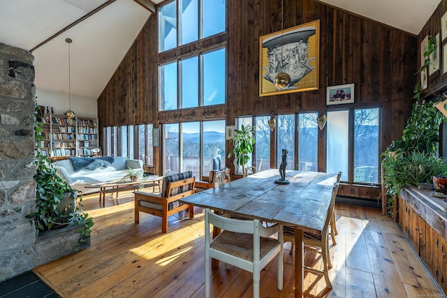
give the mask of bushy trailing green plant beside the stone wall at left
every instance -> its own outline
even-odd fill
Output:
[[[37,111],[38,105],[36,105]],[[36,112],[35,112],[36,116]],[[41,122],[36,120],[34,135],[36,144],[41,140]],[[39,145],[38,145],[39,147]],[[64,179],[59,177],[56,169],[51,165],[47,156],[43,156],[39,150],[35,157],[36,172],[36,210],[26,217],[36,227],[36,237],[39,232],[63,227],[69,223],[79,225],[77,232],[81,235],[80,241],[73,251],[90,236],[93,218],[82,211],[82,196],[72,188]]]

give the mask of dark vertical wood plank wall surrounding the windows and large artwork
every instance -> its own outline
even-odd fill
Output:
[[[305,111],[320,116],[326,110],[337,109],[325,105],[327,86],[355,83],[356,103],[342,107],[382,108],[382,150],[402,135],[413,103],[418,36],[318,1],[284,1],[284,29],[320,20],[319,89],[259,97],[259,37],[282,29],[281,1],[227,0],[227,6],[226,33],[162,54],[157,53],[157,19],[152,15],[98,98],[100,127],[146,123],[158,126],[212,118],[226,119],[227,125],[233,125],[235,117],[244,115],[273,117]],[[158,64],[200,51],[205,45],[225,44],[227,104],[157,112]],[[228,142],[226,147],[228,150]],[[271,147],[274,154],[274,144]],[[155,151],[154,156],[158,156]],[[157,160],[154,158],[155,163]],[[324,171],[324,165],[325,130],[318,135],[318,170]],[[155,167],[159,169],[159,165]]]

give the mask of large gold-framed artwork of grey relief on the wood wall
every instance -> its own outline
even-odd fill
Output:
[[[261,36],[259,96],[318,90],[320,20]]]

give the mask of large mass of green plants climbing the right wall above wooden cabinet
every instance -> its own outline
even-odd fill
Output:
[[[418,73],[427,71],[435,43],[434,38],[430,36],[428,50],[423,53],[425,63]],[[392,142],[381,155],[383,184],[386,194],[389,195],[388,206],[395,204],[401,188],[432,183],[433,176],[447,173],[444,159],[437,157],[439,126],[446,118],[434,107],[435,103],[444,98],[437,97],[430,101],[421,99],[423,89],[420,83],[416,83],[413,91],[416,102],[402,137]]]

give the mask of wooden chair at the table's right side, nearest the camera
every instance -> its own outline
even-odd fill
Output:
[[[313,274],[322,274],[325,278],[326,286],[332,289],[332,284],[329,279],[329,269],[332,268],[329,255],[329,225],[332,219],[332,214],[334,213],[335,198],[337,197],[339,184],[335,183],[334,188],[332,188],[332,197],[330,198],[330,204],[328,209],[328,214],[326,214],[325,223],[323,225],[323,230],[321,234],[312,234],[309,232],[303,233],[303,241],[305,244],[305,251],[313,251],[315,253],[321,254],[323,258],[323,270],[314,269],[312,267],[304,266],[305,271],[312,272]],[[293,252],[295,246],[295,228],[284,226],[284,242],[291,242],[291,253]],[[320,249],[318,249],[320,248]],[[296,256],[295,256],[296,258]]]

